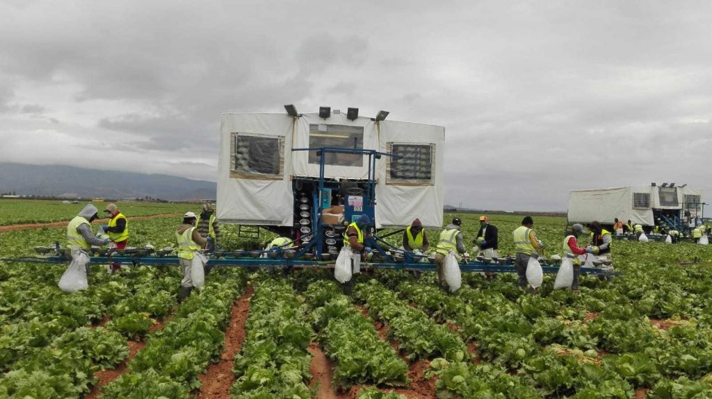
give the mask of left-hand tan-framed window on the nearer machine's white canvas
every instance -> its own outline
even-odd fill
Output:
[[[282,136],[233,133],[231,141],[231,177],[282,178]]]

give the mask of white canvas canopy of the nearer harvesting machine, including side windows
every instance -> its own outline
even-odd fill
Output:
[[[293,224],[293,177],[318,177],[314,152],[294,148],[335,146],[383,153],[424,151],[419,165],[376,165],[376,227],[408,226],[419,218],[429,229],[442,226],[444,205],[442,126],[401,121],[372,121],[345,114],[322,119],[318,114],[223,114],[221,119],[217,217],[221,222],[290,226]],[[364,180],[367,156],[330,154],[325,177]],[[422,175],[403,180],[397,170],[416,168]],[[420,168],[420,169],[417,169]]]

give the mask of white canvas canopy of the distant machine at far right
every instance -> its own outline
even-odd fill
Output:
[[[691,196],[691,197],[690,197]],[[614,187],[575,190],[569,193],[569,222],[598,221],[612,224],[630,219],[633,224],[654,226],[654,209],[682,210],[686,200],[701,203],[702,190],[689,187]],[[685,208],[686,209],[686,208]]]

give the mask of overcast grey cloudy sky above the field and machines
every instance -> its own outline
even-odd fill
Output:
[[[710,1],[0,0],[0,161],[216,180],[220,114],[446,129],[446,203],[712,200]]]

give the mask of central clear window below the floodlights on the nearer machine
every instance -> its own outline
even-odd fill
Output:
[[[310,124],[309,148],[336,147],[363,149],[363,126]],[[326,153],[325,165],[363,166],[362,154]],[[309,163],[319,165],[320,156],[309,151]]]

